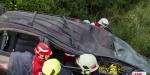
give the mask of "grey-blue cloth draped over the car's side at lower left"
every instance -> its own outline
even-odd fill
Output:
[[[8,75],[31,75],[31,59],[30,52],[12,52],[8,64]]]

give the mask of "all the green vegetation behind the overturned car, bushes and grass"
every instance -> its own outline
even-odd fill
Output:
[[[0,3],[7,10],[36,10],[91,22],[106,17],[116,36],[150,58],[150,0],[1,0]]]

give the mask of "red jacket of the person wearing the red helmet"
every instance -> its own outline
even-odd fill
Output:
[[[42,65],[45,60],[38,58],[37,55],[34,55],[32,58],[32,74],[33,75],[42,75]]]

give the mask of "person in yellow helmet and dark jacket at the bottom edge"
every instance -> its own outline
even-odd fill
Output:
[[[44,62],[42,72],[44,75],[73,75],[70,70],[63,68],[55,58]]]

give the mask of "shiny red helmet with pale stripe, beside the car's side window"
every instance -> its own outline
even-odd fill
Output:
[[[46,43],[38,43],[34,49],[35,54],[37,55],[51,55],[52,50],[48,47]]]

